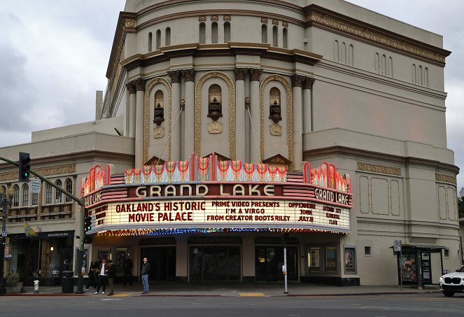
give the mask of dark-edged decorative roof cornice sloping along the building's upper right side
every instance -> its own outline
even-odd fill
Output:
[[[306,22],[309,26],[318,25],[355,36],[358,39],[386,46],[444,66],[445,58],[451,53],[442,48],[427,45],[412,38],[385,31],[371,24],[351,19],[316,5],[307,8]],[[414,45],[416,44],[416,45]]]

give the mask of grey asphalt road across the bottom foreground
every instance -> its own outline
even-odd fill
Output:
[[[464,316],[464,295],[335,297],[0,297],[0,316]]]

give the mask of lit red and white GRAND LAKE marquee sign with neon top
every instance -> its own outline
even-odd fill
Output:
[[[334,164],[289,174],[281,167],[190,161],[111,175],[94,167],[83,191],[90,234],[106,230],[169,228],[293,228],[349,232],[349,176]],[[228,163],[225,163],[228,162]],[[215,168],[216,167],[216,168]],[[89,180],[93,180],[90,182]]]

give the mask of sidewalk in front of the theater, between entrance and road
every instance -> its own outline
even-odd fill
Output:
[[[62,286],[39,286],[39,293],[34,294],[34,287],[26,286],[25,293],[7,294],[6,296],[95,296],[103,297],[101,290],[98,295],[94,295],[95,289],[85,290],[83,294],[76,294],[77,286],[74,286],[74,293],[62,293]],[[288,294],[284,294],[285,286],[283,283],[175,283],[160,282],[150,283],[150,293],[141,295],[141,283],[134,283],[134,286],[122,286],[115,284],[115,297],[123,296],[347,296],[347,295],[408,295],[439,293],[438,286],[426,286],[423,289],[403,286],[402,291],[399,286],[327,286],[311,283],[288,283]]]

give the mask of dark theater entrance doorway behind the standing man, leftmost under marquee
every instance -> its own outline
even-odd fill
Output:
[[[150,246],[142,247],[140,263],[143,258],[150,261],[150,281],[175,281],[176,280],[176,247],[175,246]]]

